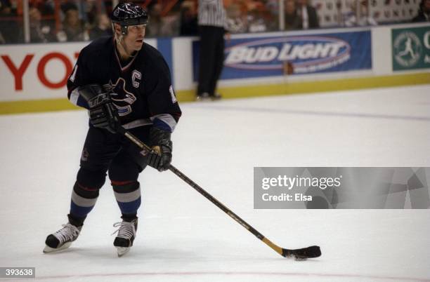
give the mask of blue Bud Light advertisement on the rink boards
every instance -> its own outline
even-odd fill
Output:
[[[221,79],[347,72],[372,69],[370,31],[249,37],[226,43]],[[198,74],[198,42],[193,43],[194,79]]]

